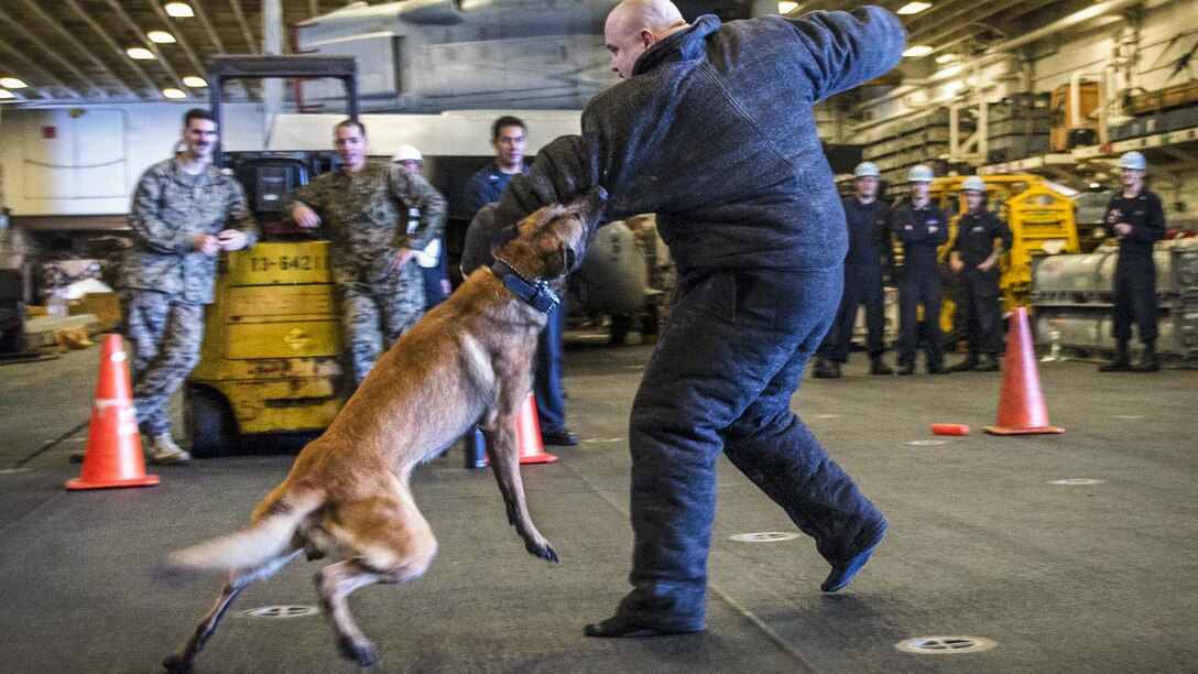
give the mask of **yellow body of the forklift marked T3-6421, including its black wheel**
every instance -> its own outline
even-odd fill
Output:
[[[345,403],[328,242],[225,253],[216,296],[184,389],[192,452],[234,450],[238,434],[327,427]]]

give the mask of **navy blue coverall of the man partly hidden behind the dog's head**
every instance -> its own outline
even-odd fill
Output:
[[[524,167],[522,173],[528,173],[530,168]],[[503,194],[503,188],[508,186],[514,174],[503,173],[492,161],[470,176],[466,183],[466,203],[470,205],[471,215],[492,201],[498,201]],[[467,233],[468,236],[468,233]],[[485,239],[484,239],[485,241]],[[490,259],[490,251],[486,249],[486,259],[477,260],[477,264],[490,266],[495,260]],[[467,259],[462,258],[462,267],[466,267]],[[473,263],[472,263],[473,264]],[[473,269],[462,269],[470,273]],[[565,336],[565,307],[563,295],[562,303],[549,312],[549,320],[545,330],[537,336],[537,361],[532,372],[532,395],[537,401],[537,421],[540,423],[540,432],[562,431],[565,428],[565,392],[562,390],[562,338]]]

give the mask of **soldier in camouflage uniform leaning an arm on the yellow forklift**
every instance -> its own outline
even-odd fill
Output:
[[[412,255],[442,235],[446,200],[398,164],[368,163],[361,124],[337,125],[333,138],[341,168],[296,189],[284,209],[301,227],[328,227],[349,357],[361,384],[379,353],[424,313],[423,277]]]

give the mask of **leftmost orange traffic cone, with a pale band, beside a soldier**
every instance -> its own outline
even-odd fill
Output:
[[[125,343],[120,335],[104,339],[96,380],[96,404],[87,429],[87,451],[83,471],[67,482],[67,489],[103,489],[107,487],[150,487],[157,475],[146,475],[141,458],[141,434],[138,413],[133,408],[133,387],[126,366]]]

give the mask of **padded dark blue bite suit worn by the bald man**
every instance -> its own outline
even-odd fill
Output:
[[[904,42],[879,7],[700,17],[504,191],[494,217],[515,224],[603,186],[607,219],[658,215],[678,265],[629,422],[633,590],[606,624],[703,627],[721,451],[834,571],[884,531],[791,397],[835,315],[848,243],[812,106],[893,68]]]

